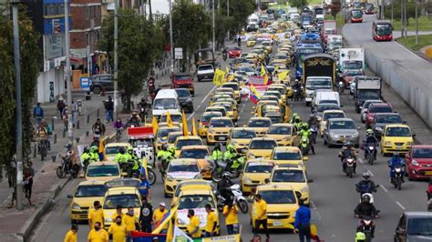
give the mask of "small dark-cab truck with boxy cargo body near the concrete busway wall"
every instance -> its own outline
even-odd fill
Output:
[[[354,100],[355,111],[360,113],[361,107],[366,100],[379,100],[381,98],[382,82],[376,76],[355,76]]]

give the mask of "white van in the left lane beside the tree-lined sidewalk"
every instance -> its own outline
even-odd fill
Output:
[[[177,92],[174,89],[161,89],[153,101],[153,116],[159,120],[163,114],[170,112],[171,114],[180,113],[180,103]]]

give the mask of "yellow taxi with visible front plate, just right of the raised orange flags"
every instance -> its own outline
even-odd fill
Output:
[[[226,143],[232,127],[234,124],[228,116],[211,117],[209,129],[207,129],[207,145]]]

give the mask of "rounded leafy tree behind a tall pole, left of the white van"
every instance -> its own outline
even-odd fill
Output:
[[[114,56],[114,16],[102,23],[102,39],[98,43]],[[131,9],[118,11],[118,87],[125,91],[125,112],[130,111],[130,97],[142,91],[146,76],[163,48],[160,28]],[[111,62],[113,64],[113,62]]]

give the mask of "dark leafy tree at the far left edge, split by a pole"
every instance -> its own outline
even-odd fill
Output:
[[[12,168],[15,155],[15,70],[14,38],[10,5],[0,5],[0,165]],[[26,14],[26,7],[19,6],[19,39],[21,55],[21,93],[23,106],[23,153],[25,160],[31,153],[33,126],[32,103],[36,91],[39,67],[42,66],[38,46],[39,35]],[[30,97],[30,98],[29,98]]]

